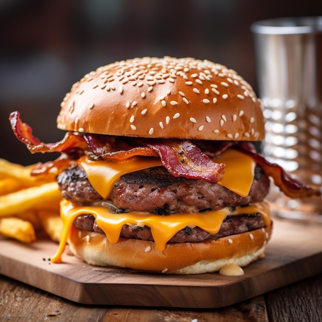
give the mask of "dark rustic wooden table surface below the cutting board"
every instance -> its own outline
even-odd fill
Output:
[[[211,310],[85,306],[0,275],[0,321],[322,321],[322,274]]]

